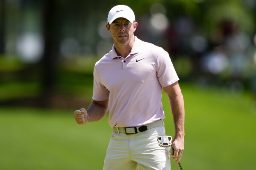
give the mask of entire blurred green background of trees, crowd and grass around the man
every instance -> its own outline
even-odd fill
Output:
[[[118,4],[169,52],[185,101],[184,170],[254,170],[255,0],[0,0],[0,170],[100,170],[108,115],[79,126]],[[174,136],[163,94],[167,135]],[[172,161],[172,170],[179,170]]]

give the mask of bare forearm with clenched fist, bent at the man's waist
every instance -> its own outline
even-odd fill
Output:
[[[104,118],[108,111],[109,100],[92,101],[87,110],[81,108],[74,112],[74,118],[77,124],[85,124],[86,122],[99,121]]]

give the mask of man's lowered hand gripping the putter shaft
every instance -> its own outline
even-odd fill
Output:
[[[184,139],[183,138],[174,138],[171,145],[174,148],[174,151],[171,150],[170,155],[173,156],[175,163],[178,163],[181,159],[181,156],[182,156],[182,153],[184,150]]]

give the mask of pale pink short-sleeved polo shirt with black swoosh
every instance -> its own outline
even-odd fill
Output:
[[[123,58],[112,50],[94,67],[93,100],[109,99],[111,127],[133,127],[164,119],[162,87],[179,78],[164,49],[135,37]]]

